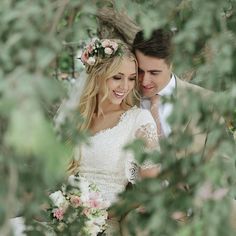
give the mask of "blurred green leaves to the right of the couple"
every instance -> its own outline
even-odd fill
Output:
[[[175,31],[174,72],[217,93],[207,101],[186,94],[187,106],[183,101],[174,104],[169,122],[175,132],[161,141],[161,153],[141,153],[139,143],[129,146],[141,162],[152,158],[163,171],[122,194],[125,201],[115,209],[124,215],[134,202],[144,209],[131,211],[124,220],[130,235],[143,229],[148,235],[235,235],[236,156],[231,135],[236,121],[236,1],[134,1],[134,5],[128,7],[129,15],[147,35],[157,27]],[[210,104],[226,119],[232,134],[213,119]],[[208,138],[211,148],[179,159],[177,152],[192,144],[191,133],[181,130],[189,117],[213,130]],[[182,222],[174,220],[177,216]]]

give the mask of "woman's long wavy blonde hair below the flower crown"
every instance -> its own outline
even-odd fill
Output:
[[[122,53],[110,58],[97,58],[94,65],[86,65],[85,68],[88,74],[87,83],[85,84],[85,89],[78,104],[78,112],[83,117],[83,122],[78,123],[78,131],[85,131],[91,127],[93,114],[101,108],[101,103],[108,97],[107,80],[119,72],[120,65],[124,58],[135,62],[136,81],[135,87],[122,101],[121,106],[124,110],[127,110],[140,100],[138,93],[138,63],[135,55],[131,52],[126,43],[117,39],[110,40],[118,43]],[[98,101],[100,91],[102,91],[103,97]],[[72,160],[68,168],[69,173],[75,173],[78,167],[79,161]]]

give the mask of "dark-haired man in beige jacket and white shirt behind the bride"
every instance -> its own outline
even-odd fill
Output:
[[[148,39],[144,37],[143,31],[138,32],[133,42],[133,51],[139,65],[139,81],[142,94],[141,107],[149,109],[153,114],[161,138],[169,136],[179,128],[179,126],[177,129],[176,127],[171,127],[167,122],[167,118],[173,111],[174,106],[171,103],[163,103],[164,98],[174,97],[174,100],[176,102],[179,101],[182,110],[185,111],[183,106],[186,106],[186,108],[191,106],[187,97],[188,92],[192,92],[193,95],[197,94],[201,98],[212,94],[209,90],[179,79],[173,73],[171,39],[171,32],[156,29]],[[196,152],[204,155],[209,129],[200,128],[197,123],[194,117],[188,117],[183,124],[182,132],[191,134],[193,142],[179,153],[179,157]]]

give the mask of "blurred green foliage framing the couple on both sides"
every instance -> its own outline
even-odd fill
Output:
[[[28,222],[44,216],[41,205],[48,201],[48,191],[65,178],[73,143],[59,139],[53,128],[55,104],[67,92],[55,77],[60,79],[61,73],[77,77],[80,68],[73,57],[81,42],[96,34],[97,10],[110,2],[1,1],[0,235],[10,234],[9,217],[23,215]],[[175,29],[175,73],[191,75],[194,83],[217,91],[211,102],[234,132],[236,1],[117,0],[115,5],[147,35],[157,27]],[[193,96],[188,100],[191,109],[175,104],[170,122],[181,126],[186,116],[200,112],[199,123],[204,126],[204,117],[211,116],[207,103]],[[235,197],[235,143],[217,123],[211,125],[212,146],[216,144],[214,154],[208,153],[211,161],[198,154],[176,158],[176,150],[191,145],[188,133],[176,132],[162,141],[161,153],[143,153],[139,142],[130,146],[140,161],[150,157],[163,165],[160,177],[141,181],[123,194],[119,214],[133,202],[145,209],[132,211],[125,220],[131,235],[137,229],[145,229],[148,235],[235,235],[230,205]],[[73,124],[64,129],[76,136]],[[77,135],[79,141],[85,139]],[[182,184],[190,190],[183,190]],[[220,195],[224,189],[228,193]],[[187,222],[172,219],[179,212],[189,216]]]

